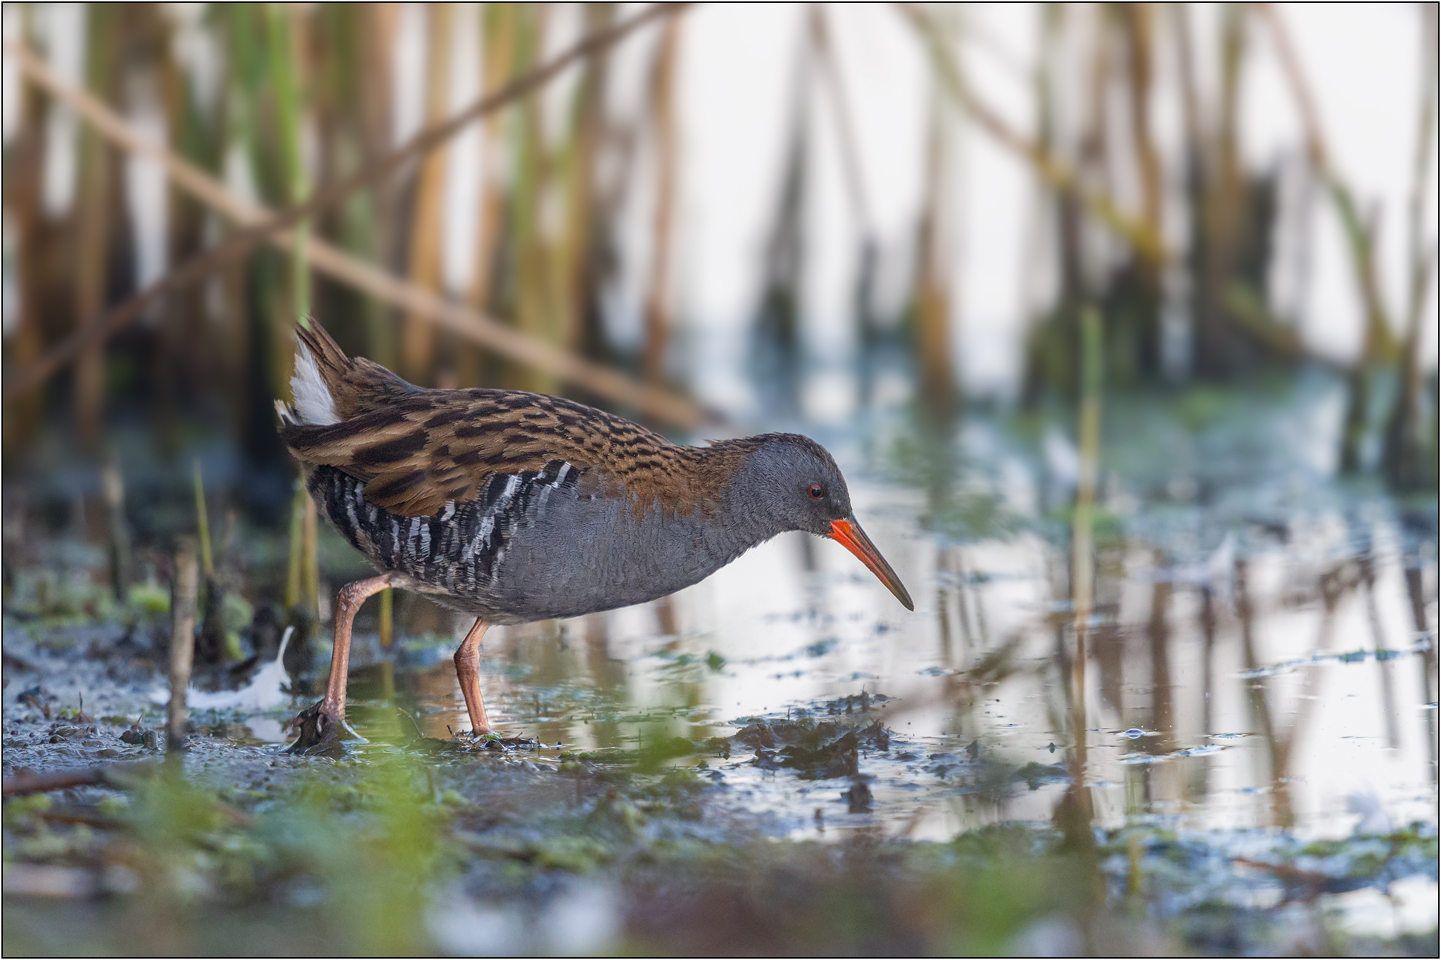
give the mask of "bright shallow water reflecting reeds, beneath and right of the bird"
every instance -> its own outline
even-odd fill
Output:
[[[938,455],[953,471],[940,482],[893,456],[904,427],[873,430],[867,445],[821,439],[922,599],[916,613],[834,544],[781,537],[669,602],[494,630],[481,655],[497,727],[592,759],[703,761],[728,787],[716,803],[784,835],[821,836],[823,825],[827,839],[852,826],[948,838],[1066,816],[1343,835],[1357,822],[1347,797],[1366,792],[1396,823],[1435,820],[1434,531],[1418,545],[1386,501],[1284,463],[1251,465],[1251,486],[1226,486],[1205,475],[1231,469],[1219,455],[1177,458],[1159,478],[1117,456],[1114,471],[1102,462],[1088,606],[1071,577],[1072,524],[1038,512],[1042,481],[1014,486],[1030,476],[1016,466],[1025,445],[973,422],[965,436],[987,456],[958,442]],[[895,461],[904,475],[888,479]],[[1179,469],[1199,475],[1173,484]],[[1197,488],[1210,502],[1167,492]],[[951,520],[937,533],[925,517]],[[448,649],[432,662],[376,674],[362,723],[395,724],[380,705],[393,697],[428,735],[465,728]],[[892,698],[870,702],[893,735],[860,757],[869,812],[847,813],[846,780],[761,770],[733,741],[729,757],[706,747],[744,718],[826,712],[862,692]],[[666,760],[676,737],[699,753]]]

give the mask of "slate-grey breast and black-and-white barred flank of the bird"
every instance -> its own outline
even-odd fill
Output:
[[[406,586],[493,623],[526,623],[643,603],[703,580],[752,543],[699,515],[667,515],[602,494],[563,461],[493,475],[473,501],[398,517],[360,481],[317,468],[311,494],[336,530]]]

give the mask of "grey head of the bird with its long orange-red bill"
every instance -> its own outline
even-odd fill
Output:
[[[791,530],[834,540],[914,610],[901,577],[856,522],[846,478],[826,448],[798,433],[767,433],[751,443],[731,485],[732,511],[762,525],[761,540]]]

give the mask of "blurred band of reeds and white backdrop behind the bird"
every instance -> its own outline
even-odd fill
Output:
[[[1347,63],[1298,42],[1344,49],[1344,17],[1265,4],[672,10],[72,343],[640,9],[7,6],[7,463],[48,427],[98,456],[127,417],[169,449],[199,417],[282,466],[269,402],[307,312],[421,384],[687,430],[1069,399],[1094,307],[1110,389],[1320,363],[1349,383],[1342,469],[1434,482],[1425,4],[1372,32],[1409,78],[1365,60],[1375,36]],[[1408,128],[1368,153],[1336,73]],[[807,391],[837,364],[855,386]]]

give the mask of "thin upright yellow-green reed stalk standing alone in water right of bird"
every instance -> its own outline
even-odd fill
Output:
[[[1101,458],[1102,367],[1101,312],[1087,307],[1081,314],[1081,475],[1071,520],[1071,606],[1075,615],[1075,656],[1071,665],[1071,723],[1075,731],[1075,783],[1085,779],[1085,661],[1087,635],[1095,596],[1095,484]]]

